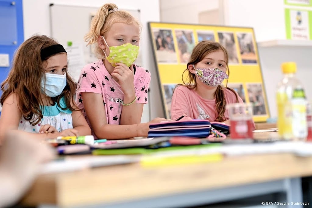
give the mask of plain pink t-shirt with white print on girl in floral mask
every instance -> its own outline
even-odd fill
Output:
[[[227,88],[223,88],[225,101],[227,104],[237,103],[234,92]],[[237,95],[238,102],[243,100]],[[178,86],[172,95],[171,101],[171,119],[176,120],[183,114],[187,115],[181,120],[206,119],[209,122],[217,122],[218,114],[216,112],[216,99],[203,99],[195,90],[186,86]],[[225,120],[229,119],[229,113],[226,109],[224,112]],[[255,125],[255,124],[254,124]]]

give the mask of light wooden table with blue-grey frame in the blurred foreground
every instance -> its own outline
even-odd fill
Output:
[[[129,164],[40,175],[22,204],[179,207],[279,191],[286,193],[281,201],[298,202],[300,177],[312,175],[311,164],[312,157],[270,154],[173,167]]]

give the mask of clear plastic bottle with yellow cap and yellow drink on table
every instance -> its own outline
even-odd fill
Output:
[[[295,62],[281,65],[284,78],[277,86],[277,128],[281,139],[305,140],[307,131],[307,100],[301,82],[295,77]]]

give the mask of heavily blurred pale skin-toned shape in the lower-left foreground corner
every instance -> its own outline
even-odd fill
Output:
[[[16,203],[32,184],[41,164],[54,157],[46,144],[20,131],[9,133],[0,149],[0,207]]]

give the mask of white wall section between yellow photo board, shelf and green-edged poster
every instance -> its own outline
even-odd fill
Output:
[[[256,40],[286,39],[284,0],[223,0],[227,26],[253,27]]]

